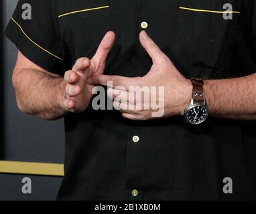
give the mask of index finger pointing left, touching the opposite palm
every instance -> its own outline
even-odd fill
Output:
[[[92,76],[87,80],[88,84],[111,86],[113,88],[122,86],[128,90],[129,86],[137,86],[138,78],[127,78],[124,76],[97,75]]]

